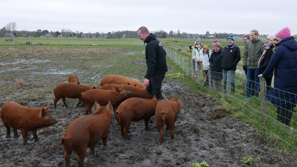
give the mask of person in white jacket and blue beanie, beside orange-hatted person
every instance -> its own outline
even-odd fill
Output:
[[[203,70],[203,45],[201,44],[201,40],[200,38],[198,37],[197,40],[196,40],[196,45],[193,49],[193,58],[195,60],[195,62],[197,62],[197,68],[199,70]],[[197,69],[197,70],[198,70]],[[195,77],[197,78],[196,75],[198,75],[199,73],[195,73]],[[204,80],[205,80],[205,73],[203,72],[203,77],[204,77]]]

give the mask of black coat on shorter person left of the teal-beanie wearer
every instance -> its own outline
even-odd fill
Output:
[[[213,77],[217,79],[222,79],[222,68],[221,65],[221,58],[222,58],[222,48],[220,47],[218,52],[212,52],[209,58],[209,64]]]

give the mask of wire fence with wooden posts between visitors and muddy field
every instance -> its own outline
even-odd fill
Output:
[[[288,139],[282,135],[275,134],[273,131],[275,128],[281,127],[280,124],[282,124],[287,127],[287,130],[297,132],[297,118],[292,107],[297,104],[296,94],[268,87],[268,90],[271,90],[270,94],[266,91],[266,82],[263,77],[260,77],[260,83],[257,83],[247,80],[246,77],[241,75],[232,75],[231,71],[222,74],[221,72],[212,72],[210,68],[207,71],[200,70],[197,62],[194,68],[191,58],[181,56],[175,50],[165,49],[167,56],[179,65],[185,73],[192,76],[201,88],[207,89],[209,94],[225,101],[231,108],[245,115],[259,125],[260,128],[269,131],[275,137],[291,145],[287,142]],[[195,75],[194,72],[196,73]],[[247,81],[249,81],[248,86],[250,86],[248,98],[246,98]],[[279,98],[277,95],[280,95],[282,98]],[[279,104],[278,108],[267,101],[269,97],[274,104]],[[270,126],[274,126],[274,130],[271,130]],[[277,131],[282,131],[282,129],[279,128]],[[289,140],[296,140],[296,138]],[[295,146],[291,146],[297,149]]]

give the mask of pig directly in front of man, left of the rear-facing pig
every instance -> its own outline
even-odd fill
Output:
[[[145,130],[148,130],[148,121],[155,115],[158,102],[159,100],[154,96],[153,99],[129,98],[119,105],[114,116],[125,139],[127,139],[131,122],[144,119]]]

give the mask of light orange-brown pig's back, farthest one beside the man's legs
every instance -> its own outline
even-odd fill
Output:
[[[146,88],[141,82],[121,75],[104,76],[101,78],[100,85],[102,87],[106,84],[127,84],[127,82],[129,82],[131,85],[136,84],[136,87],[138,88]]]

